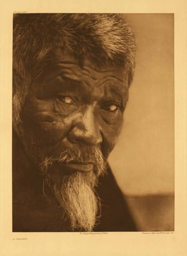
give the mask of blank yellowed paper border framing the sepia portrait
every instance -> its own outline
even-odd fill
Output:
[[[175,17],[175,232],[12,233],[12,13],[174,13]],[[185,256],[187,216],[185,1],[5,1],[1,12],[1,242],[3,256],[170,255]],[[12,240],[26,238],[25,240]]]

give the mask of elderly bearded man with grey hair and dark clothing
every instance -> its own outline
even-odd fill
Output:
[[[135,50],[118,14],[14,16],[14,232],[136,231],[107,163]]]

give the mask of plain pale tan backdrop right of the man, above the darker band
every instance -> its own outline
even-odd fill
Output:
[[[137,40],[124,125],[109,163],[127,195],[174,193],[174,14],[123,14]]]

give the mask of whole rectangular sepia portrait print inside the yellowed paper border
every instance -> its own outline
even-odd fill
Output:
[[[174,14],[14,13],[12,232],[174,231]]]

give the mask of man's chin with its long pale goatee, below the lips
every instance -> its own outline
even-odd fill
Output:
[[[97,224],[100,204],[94,192],[97,185],[94,172],[77,171],[61,177],[48,173],[46,179],[63,212],[69,217],[72,231],[92,231]]]

